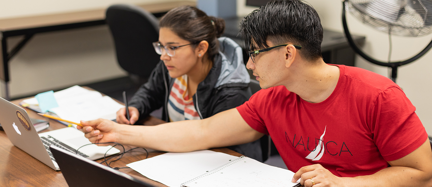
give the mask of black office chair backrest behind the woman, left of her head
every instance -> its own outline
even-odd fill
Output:
[[[139,6],[118,4],[108,7],[106,22],[114,38],[119,65],[140,85],[159,62],[152,42],[159,40],[159,21]]]

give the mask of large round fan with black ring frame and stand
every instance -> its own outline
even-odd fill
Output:
[[[391,68],[391,80],[396,82],[397,67],[408,64],[423,56],[432,41],[417,55],[401,62],[381,62],[362,52],[353,41],[346,25],[346,11],[360,22],[389,35],[417,37],[432,32],[432,0],[344,0],[342,23],[346,38],[353,50],[377,65]]]

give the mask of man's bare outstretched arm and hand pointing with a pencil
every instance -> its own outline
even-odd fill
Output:
[[[255,131],[237,109],[202,120],[184,120],[155,126],[120,125],[110,120],[84,122],[85,137],[92,143],[118,142],[166,152],[190,152],[252,142],[264,134]],[[106,145],[106,144],[102,144]]]

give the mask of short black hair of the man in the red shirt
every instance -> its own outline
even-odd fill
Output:
[[[248,51],[271,47],[267,41],[275,46],[290,42],[302,46],[299,51],[303,58],[322,58],[320,17],[314,8],[299,0],[270,1],[254,10],[241,21],[240,34]]]

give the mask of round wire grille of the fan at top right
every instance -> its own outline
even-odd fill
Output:
[[[432,32],[431,0],[348,0],[346,10],[360,22],[397,36]]]

